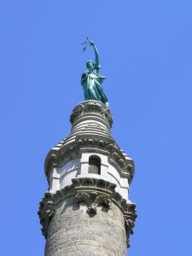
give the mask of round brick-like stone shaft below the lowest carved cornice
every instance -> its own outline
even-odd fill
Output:
[[[110,210],[99,206],[92,216],[86,211],[86,204],[75,206],[73,197],[61,201],[49,224],[46,256],[126,255],[125,219],[119,207],[112,202]]]

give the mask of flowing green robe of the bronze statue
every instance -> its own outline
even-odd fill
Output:
[[[102,90],[102,82],[105,77],[98,73],[99,66],[90,68],[88,71],[83,73],[81,78],[81,84],[84,88],[84,100],[95,100],[102,102],[108,107],[108,98],[105,96]]]

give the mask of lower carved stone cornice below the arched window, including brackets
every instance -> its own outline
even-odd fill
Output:
[[[57,190],[55,194],[46,192],[39,203],[38,216],[43,226],[42,233],[47,237],[49,222],[55,214],[56,206],[69,196],[74,196],[74,204],[84,202],[87,205],[88,214],[96,214],[96,207],[105,206],[108,210],[113,202],[123,212],[125,217],[125,230],[127,246],[130,246],[129,238],[133,233],[135,219],[137,218],[136,205],[131,201],[125,201],[119,193],[115,192],[116,185],[96,178],[74,178],[72,185]]]

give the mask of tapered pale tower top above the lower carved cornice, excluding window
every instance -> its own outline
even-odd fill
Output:
[[[95,156],[101,160],[99,178],[115,183],[119,194],[128,200],[134,162],[111,136],[113,118],[109,108],[102,102],[81,102],[73,109],[70,121],[70,135],[52,148],[45,160],[44,170],[50,190],[55,192],[71,184],[73,177],[98,178],[98,175],[89,172],[89,159]],[[75,165],[76,171],[60,177],[56,174],[55,177],[55,168],[61,168],[64,172],[66,165],[67,168]]]

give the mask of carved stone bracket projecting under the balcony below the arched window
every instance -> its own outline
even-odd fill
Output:
[[[108,208],[111,206],[111,196],[99,195],[97,192],[79,192],[77,195],[75,195],[75,201],[77,203],[84,201],[87,204],[87,212],[93,215],[96,214],[96,207],[98,207],[98,205],[104,205]]]

